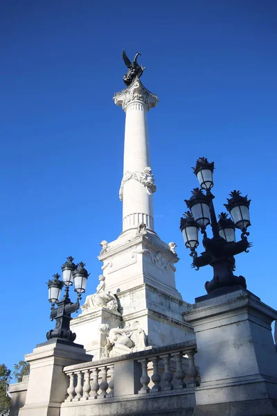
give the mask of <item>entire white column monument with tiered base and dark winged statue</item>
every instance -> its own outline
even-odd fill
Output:
[[[71,322],[78,343],[95,358],[107,354],[107,339],[99,330],[100,324],[123,330],[126,324],[132,327],[136,322],[145,333],[146,345],[153,347],[166,345],[169,338],[176,343],[195,338],[190,324],[182,319],[190,304],[182,300],[175,286],[175,263],[179,260],[176,244],[161,241],[154,231],[153,194],[157,187],[150,160],[147,113],[159,99],[139,79],[144,70],[136,62],[139,55],[136,53],[131,62],[123,51],[129,68],[123,78],[127,87],[114,95],[114,103],[126,114],[119,188],[123,232],[114,241],[100,242],[98,259],[105,288],[100,284],[96,294],[87,297],[82,313]]]

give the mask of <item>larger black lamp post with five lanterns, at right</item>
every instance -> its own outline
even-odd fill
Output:
[[[249,204],[247,196],[242,197],[240,191],[231,192],[231,198],[224,204],[231,214],[221,213],[217,223],[215,208],[213,206],[213,170],[214,163],[209,163],[205,157],[199,157],[193,171],[199,180],[201,189],[193,189],[193,196],[185,200],[190,209],[181,218],[180,229],[184,236],[186,248],[190,248],[190,256],[193,257],[193,267],[199,270],[203,266],[213,267],[213,279],[206,281],[205,288],[208,294],[219,295],[226,291],[233,291],[234,286],[247,288],[246,281],[242,276],[233,275],[235,268],[235,254],[248,252],[251,243],[247,240],[250,224]],[[206,191],[206,195],[204,194]],[[208,239],[206,234],[207,225],[211,224],[213,238]],[[241,240],[235,242],[235,228],[241,229]],[[198,242],[198,230],[204,234],[203,245],[205,251],[197,257],[196,248]]]

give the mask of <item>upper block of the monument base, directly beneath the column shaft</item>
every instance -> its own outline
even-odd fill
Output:
[[[123,233],[98,259],[103,262],[107,291],[118,294],[149,284],[181,300],[175,285],[175,263],[179,259],[155,233]]]

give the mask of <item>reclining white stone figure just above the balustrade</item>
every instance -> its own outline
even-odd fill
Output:
[[[102,358],[116,357],[131,352],[143,351],[145,345],[145,333],[138,327],[139,322],[132,325],[126,324],[124,328],[111,328],[102,324],[99,327],[101,333],[107,333],[107,343],[102,351]]]

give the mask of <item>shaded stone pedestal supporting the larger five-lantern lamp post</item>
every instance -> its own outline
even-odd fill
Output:
[[[198,302],[184,314],[195,330],[201,371],[195,415],[277,415],[276,318],[244,290]]]

